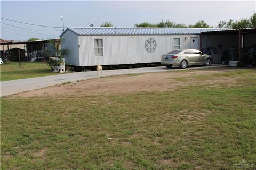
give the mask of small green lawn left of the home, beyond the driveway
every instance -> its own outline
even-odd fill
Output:
[[[1,64],[0,66],[1,81],[42,77],[45,75],[54,75],[51,68],[45,63],[12,62],[11,64]]]

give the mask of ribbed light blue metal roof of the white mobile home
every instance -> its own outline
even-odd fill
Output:
[[[120,28],[120,27],[68,27],[76,35],[195,35],[202,31],[227,30],[219,28]]]

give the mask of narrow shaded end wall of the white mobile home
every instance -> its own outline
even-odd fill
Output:
[[[61,43],[61,48],[68,48],[68,57],[65,58],[66,64],[79,66],[79,53],[78,53],[78,36],[69,30],[67,30],[61,38],[65,39]]]

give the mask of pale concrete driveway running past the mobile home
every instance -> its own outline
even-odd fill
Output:
[[[204,69],[204,68],[225,67],[225,66],[227,65],[212,65],[210,67],[205,67],[205,66],[189,67],[183,70]],[[103,76],[123,75],[123,74],[133,74],[133,73],[177,71],[177,70],[181,70],[181,69],[179,69],[178,67],[167,69],[165,66],[161,66],[161,67],[144,67],[144,68],[138,68],[138,69],[105,70],[103,71]],[[0,83],[1,97],[16,94],[18,92],[35,90],[35,89],[44,88],[47,86],[53,86],[53,85],[61,84],[68,81],[75,82],[77,80],[91,79],[95,77],[97,77],[97,72],[89,71],[89,72],[76,72],[76,73],[69,73],[69,74],[37,77],[37,78],[3,81]]]

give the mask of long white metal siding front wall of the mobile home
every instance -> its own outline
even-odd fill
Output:
[[[180,38],[181,48],[189,48],[193,36],[199,41],[199,35],[79,36],[80,66],[161,62],[161,56],[173,50],[173,38]],[[148,38],[157,43],[152,53],[145,49]],[[94,56],[94,39],[103,39],[103,57]]]

